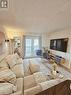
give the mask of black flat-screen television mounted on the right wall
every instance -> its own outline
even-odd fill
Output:
[[[68,38],[50,40],[50,49],[67,52]]]

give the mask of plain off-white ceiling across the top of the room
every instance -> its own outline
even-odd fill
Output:
[[[71,0],[8,0],[0,8],[0,24],[27,32],[49,32],[71,27]]]

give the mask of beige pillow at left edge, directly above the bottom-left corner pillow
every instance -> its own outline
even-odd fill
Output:
[[[16,83],[16,75],[8,68],[0,68],[0,81]]]

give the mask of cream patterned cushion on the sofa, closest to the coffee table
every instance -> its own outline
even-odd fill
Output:
[[[33,75],[37,84],[47,80],[47,77],[42,72],[37,72]]]

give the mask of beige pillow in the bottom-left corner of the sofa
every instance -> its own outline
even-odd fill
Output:
[[[16,92],[17,87],[10,83],[0,83],[0,95]]]

